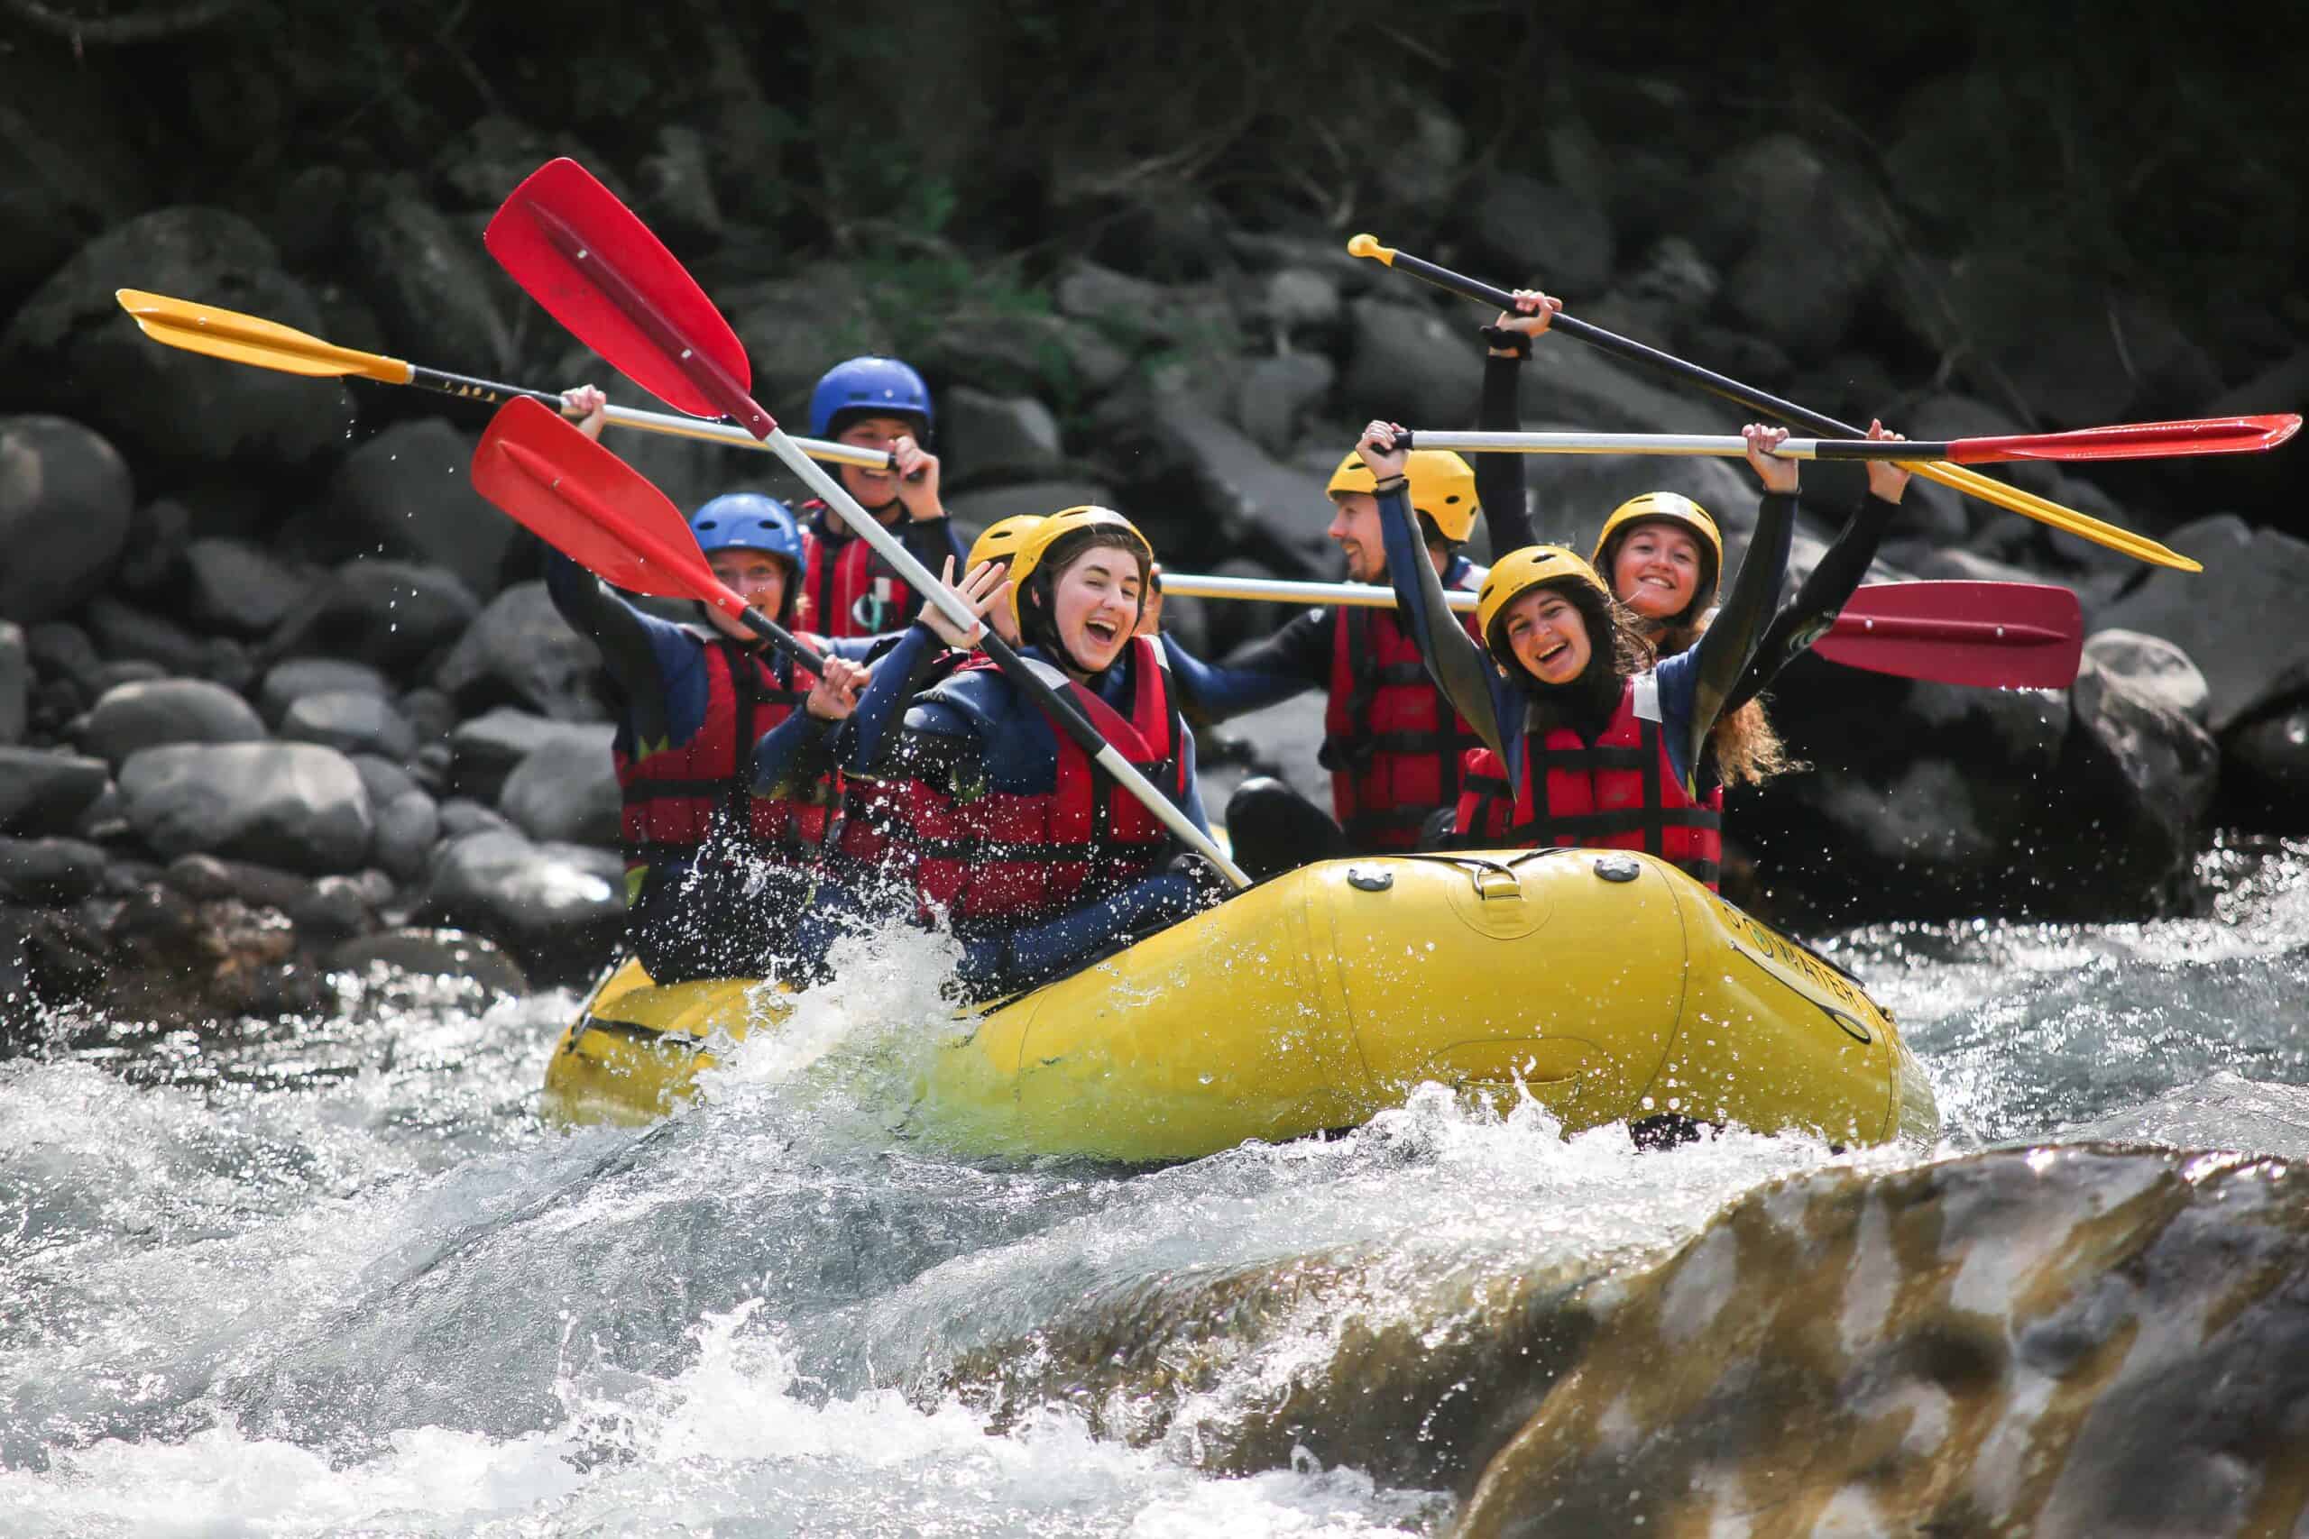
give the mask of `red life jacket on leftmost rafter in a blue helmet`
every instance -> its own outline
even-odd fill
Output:
[[[824,641],[804,635],[810,648]],[[651,865],[695,858],[709,838],[739,840],[760,851],[810,858],[827,840],[829,808],[822,803],[771,801],[753,794],[753,745],[792,715],[817,678],[778,658],[792,678],[780,678],[771,660],[737,641],[704,646],[707,718],[679,748],[628,755],[619,750],[617,784],[623,791],[626,895],[640,895]],[[834,787],[838,791],[838,782]]]

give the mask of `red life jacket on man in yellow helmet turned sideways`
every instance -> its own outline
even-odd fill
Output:
[[[1473,618],[1466,625],[1473,635]],[[1459,794],[1459,757],[1480,748],[1475,729],[1436,688],[1392,609],[1342,607],[1330,637],[1316,764],[1330,771],[1332,814],[1353,849],[1415,849],[1427,817]]]

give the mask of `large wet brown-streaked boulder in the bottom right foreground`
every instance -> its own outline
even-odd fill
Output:
[[[2304,1186],[2115,1147],[1766,1186],[1584,1299],[1455,1532],[2284,1532]]]

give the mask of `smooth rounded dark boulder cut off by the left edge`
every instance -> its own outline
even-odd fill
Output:
[[[0,418],[0,621],[48,621],[104,588],[134,508],[111,443],[65,418]]]

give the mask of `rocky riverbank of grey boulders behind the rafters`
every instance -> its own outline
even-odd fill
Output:
[[[2023,245],[1951,217],[1944,178],[1923,171],[1974,132],[1956,85],[1919,88],[1859,152],[1753,115],[1723,141],[1667,132],[1628,104],[1686,99],[1686,81],[1596,72],[1552,97],[1554,127],[1515,157],[1478,143],[1471,113],[1408,92],[1395,152],[1321,217],[1305,201],[1247,212],[1185,178],[1053,212],[1078,238],[1021,249],[926,219],[797,254],[780,240],[794,215],[741,192],[707,118],[589,145],[543,118],[469,111],[423,164],[379,164],[379,138],[171,201],[141,148],[215,125],[134,97],[118,55],[58,69],[60,48],[0,53],[0,76],[42,106],[0,118],[14,155],[0,194],[39,231],[0,265],[0,411],[14,413],[0,415],[0,1031],[55,1004],[326,1008],[328,974],[404,930],[471,930],[540,976],[582,974],[610,946],[607,701],[589,646],[545,602],[533,542],[466,487],[483,413],[171,351],[113,300],[136,286],[432,367],[603,381],[478,240],[554,152],[580,155],[697,265],[771,408],[797,408],[843,355],[901,351],[937,390],[961,521],[1111,501],[1173,570],[1335,577],[1323,480],[1353,425],[1469,422],[1487,316],[1348,258],[1344,233],[1365,222],[1919,438],[2284,411],[2309,390],[2297,293],[2184,309],[2030,265]],[[1566,339],[1526,369],[1524,418],[1739,420]],[[612,445],[683,505],[737,485],[792,491],[760,455]],[[2191,900],[2214,826],[2300,828],[2309,641],[2272,618],[2309,584],[2309,542],[2256,524],[2291,512],[2297,452],[2011,473],[2164,538],[2203,577],[1914,485],[1877,577],[2073,586],[2085,669],[2067,692],[1789,671],[1773,711],[1815,773],[1734,798],[1729,891],[1799,923],[2129,916]],[[1531,464],[1542,535],[1582,545],[1656,487],[1690,491],[1732,533],[1753,519],[1753,487],[1720,461]],[[1808,473],[1799,568],[1856,496],[1856,471]],[[1281,618],[1168,609],[1208,653]],[[1205,761],[1219,787],[1265,768],[1323,796],[1316,738],[1318,708],[1300,701],[1217,734]]]

